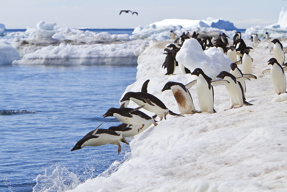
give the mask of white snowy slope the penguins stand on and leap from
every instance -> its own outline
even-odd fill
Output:
[[[245,42],[254,48],[249,54],[254,59],[257,79],[246,81],[246,98],[254,105],[224,111],[230,105],[229,94],[224,85],[216,86],[217,113],[168,115],[158,126],[134,137],[130,160],[116,172],[106,178],[89,179],[71,191],[285,191],[287,101],[282,100],[286,94],[278,96],[270,74],[262,74],[273,57],[269,52],[273,43]],[[196,78],[190,74],[183,77],[179,68],[177,75],[164,75],[162,53],[169,43],[150,42],[138,57],[137,81],[125,92],[140,91],[145,80],[150,79],[148,93],[177,113],[172,91],[161,89],[168,81],[186,85]],[[196,85],[189,91],[198,109]],[[136,106],[129,102],[128,107]]]

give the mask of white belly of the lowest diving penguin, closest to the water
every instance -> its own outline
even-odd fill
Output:
[[[81,147],[106,145],[108,143],[119,142],[123,138],[123,136],[121,135],[117,136],[117,135],[110,135],[106,133],[96,134],[96,136],[99,136],[99,137],[85,141]]]

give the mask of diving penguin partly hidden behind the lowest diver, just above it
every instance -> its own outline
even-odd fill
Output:
[[[144,130],[149,128],[151,125],[152,124],[145,124],[141,130],[138,130],[139,126],[141,126],[141,125],[129,125],[128,126],[128,124],[122,123],[118,126],[111,126],[108,129],[113,130],[116,133],[123,135],[123,137],[133,137],[133,136],[143,132]]]

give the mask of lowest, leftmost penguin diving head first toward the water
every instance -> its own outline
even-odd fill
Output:
[[[95,130],[90,131],[87,135],[80,139],[75,144],[73,149],[71,149],[71,151],[82,149],[85,146],[100,146],[110,143],[113,145],[118,145],[118,153],[120,154],[121,145],[119,142],[121,141],[129,145],[129,143],[127,143],[121,134],[118,134],[113,130],[99,129],[101,125],[102,124],[100,124]]]

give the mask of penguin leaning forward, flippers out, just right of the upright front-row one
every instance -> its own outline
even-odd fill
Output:
[[[242,107],[243,105],[253,105],[245,101],[244,95],[243,95],[243,88],[242,88],[241,83],[239,82],[239,81],[244,81],[244,80],[250,80],[249,78],[247,77],[236,78],[234,75],[228,73],[227,71],[220,72],[220,74],[218,74],[218,76],[216,77],[222,78],[223,80],[227,80],[228,82],[230,82],[229,84],[225,84],[225,87],[230,96],[230,108],[228,109],[234,108],[235,105],[239,105],[239,107]]]

